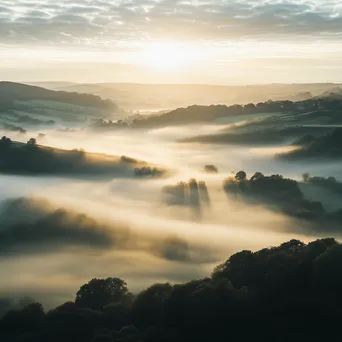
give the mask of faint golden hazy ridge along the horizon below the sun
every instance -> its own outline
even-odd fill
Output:
[[[39,85],[39,83],[38,83]],[[61,85],[50,83],[49,88],[99,95],[115,101],[126,110],[164,110],[191,105],[233,105],[262,101],[304,101],[341,84],[267,84],[267,85],[207,85],[207,84],[139,84],[85,83]]]

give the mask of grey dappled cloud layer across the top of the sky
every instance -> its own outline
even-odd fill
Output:
[[[0,0],[0,21],[3,44],[333,39],[342,34],[342,6],[334,0]]]

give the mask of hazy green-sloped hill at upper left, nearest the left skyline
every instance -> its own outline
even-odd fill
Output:
[[[90,119],[124,116],[116,103],[100,96],[0,82],[0,128],[4,130],[23,132],[54,124],[80,126]]]

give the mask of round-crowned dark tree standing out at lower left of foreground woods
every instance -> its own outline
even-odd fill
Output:
[[[107,304],[122,301],[127,294],[127,284],[120,278],[94,278],[81,286],[75,303],[81,308],[98,310]]]

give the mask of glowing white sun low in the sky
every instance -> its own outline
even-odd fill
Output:
[[[173,70],[187,65],[192,53],[184,47],[170,43],[154,43],[146,46],[140,56],[141,64],[159,70]]]

